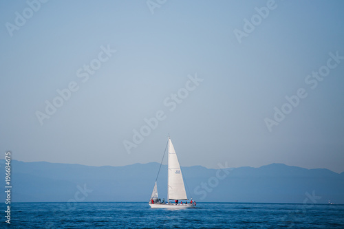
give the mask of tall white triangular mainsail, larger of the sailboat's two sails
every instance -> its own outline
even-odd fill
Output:
[[[186,197],[185,186],[180,170],[180,164],[178,162],[177,154],[171,139],[169,138],[169,176],[168,176],[168,198],[169,199],[188,199]]]

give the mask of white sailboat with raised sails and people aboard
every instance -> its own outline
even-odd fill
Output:
[[[155,179],[153,192],[151,194],[151,199],[149,200],[149,206],[151,206],[151,208],[195,208],[196,202],[193,201],[192,198],[191,201],[187,203],[188,197],[186,196],[182,170],[180,169],[178,157],[175,153],[175,149],[170,137],[166,147],[168,149],[167,202],[161,202],[158,197],[158,188],[156,186],[156,181],[158,179],[157,176],[157,178]],[[166,149],[164,154],[165,153]],[[162,160],[164,160],[164,156],[162,157]],[[160,168],[161,164],[162,163],[160,163]],[[158,175],[160,172],[160,168],[158,171]],[[176,203],[175,200],[178,200],[178,202]]]

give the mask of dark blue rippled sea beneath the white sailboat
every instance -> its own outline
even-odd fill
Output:
[[[12,203],[8,228],[344,228],[344,205],[199,202],[197,207],[151,209],[142,202]],[[5,228],[8,223],[2,212],[0,226]]]

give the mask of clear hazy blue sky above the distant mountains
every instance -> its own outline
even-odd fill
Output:
[[[156,2],[47,1],[35,12],[1,1],[1,158],[160,162],[169,133],[182,166],[344,171],[344,59],[329,55],[344,56],[344,1]],[[70,83],[77,91],[41,124],[36,111]],[[300,88],[307,97],[283,107]],[[292,110],[276,122],[275,107]],[[123,142],[157,111],[163,120],[127,153]],[[279,124],[269,131],[266,118]]]

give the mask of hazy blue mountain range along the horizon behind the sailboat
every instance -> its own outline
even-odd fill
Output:
[[[4,160],[0,160],[5,186]],[[149,201],[160,164],[83,166],[12,160],[12,201]],[[285,164],[259,168],[182,167],[189,199],[197,201],[344,204],[344,173]],[[158,178],[166,199],[167,168]],[[0,193],[0,199],[6,199]]]

